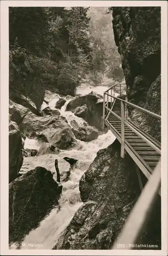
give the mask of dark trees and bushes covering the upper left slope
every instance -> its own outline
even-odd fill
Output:
[[[86,9],[9,8],[10,92],[33,98],[34,89],[63,92],[66,84],[74,95],[90,61]]]

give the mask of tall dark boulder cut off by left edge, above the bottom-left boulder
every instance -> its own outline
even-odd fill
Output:
[[[9,182],[17,178],[23,162],[22,141],[18,125],[9,122]]]

